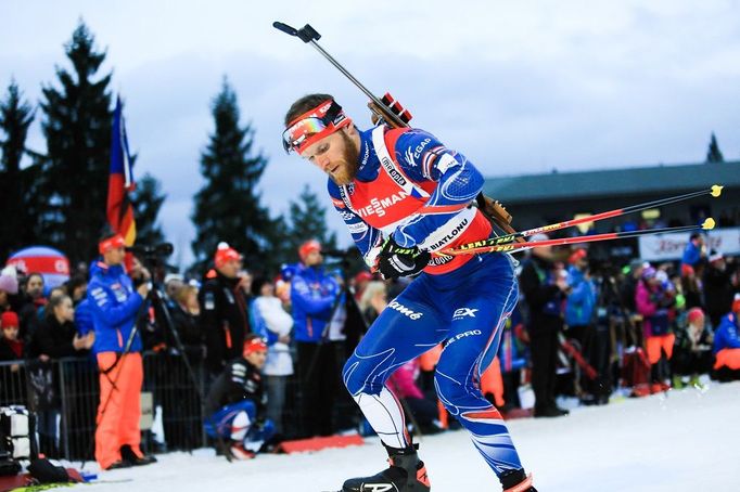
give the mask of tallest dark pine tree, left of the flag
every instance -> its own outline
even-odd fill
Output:
[[[47,139],[42,159],[46,209],[42,235],[73,262],[97,255],[105,224],[111,153],[111,74],[97,79],[105,52],[80,21],[65,44],[73,72],[56,67],[60,88],[42,88],[41,122]],[[94,80],[93,80],[94,79]]]

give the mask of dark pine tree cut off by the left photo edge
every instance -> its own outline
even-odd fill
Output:
[[[0,260],[22,246],[36,241],[37,208],[39,200],[35,184],[38,166],[21,169],[24,155],[33,155],[26,148],[28,127],[34,121],[34,108],[23,101],[23,94],[15,80],[8,87],[8,95],[0,101],[0,130],[5,138],[0,140]]]

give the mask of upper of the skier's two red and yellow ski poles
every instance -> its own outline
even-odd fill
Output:
[[[669,205],[669,204],[675,204],[678,202],[685,202],[691,198],[696,198],[698,196],[703,196],[703,195],[710,195],[714,198],[718,197],[722,194],[722,190],[724,186],[719,184],[714,184],[712,187],[707,190],[700,190],[697,192],[691,192],[691,193],[686,193],[684,195],[676,195],[676,196],[669,196],[667,198],[661,198],[656,199],[653,202],[646,202],[643,204],[638,204],[638,205],[633,205],[630,207],[625,207],[625,208],[617,208],[614,210],[610,211],[604,211],[601,213],[594,213],[591,216],[587,217],[579,217],[577,219],[572,219],[572,220],[566,220],[564,222],[556,222],[549,225],[543,225],[539,228],[534,228],[534,229],[528,229],[526,231],[520,231],[514,234],[506,234],[502,236],[498,237],[489,237],[488,239],[485,241],[476,241],[475,243],[470,243],[470,245],[475,245],[475,247],[482,247],[482,246],[495,246],[495,245],[500,245],[500,244],[507,244],[507,243],[513,243],[520,237],[530,237],[535,234],[544,233],[544,232],[552,232],[552,231],[559,231],[561,229],[566,229],[566,228],[572,228],[574,225],[583,224],[583,223],[588,223],[588,222],[597,222],[599,220],[604,220],[604,219],[612,219],[614,217],[622,217],[626,216],[628,213],[634,213],[636,211],[642,211],[647,210],[649,208],[654,208],[654,207],[661,207],[663,205]],[[485,243],[485,244],[481,244]],[[456,249],[464,249],[468,245],[463,244],[458,246]]]

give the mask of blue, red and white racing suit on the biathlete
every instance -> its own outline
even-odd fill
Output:
[[[330,180],[329,193],[366,261],[375,262],[390,234],[432,258],[372,324],[344,366],[344,383],[383,442],[405,448],[410,437],[404,412],[385,381],[444,342],[435,373],[441,401],[470,431],[496,475],[520,469],[501,415],[479,386],[519,296],[513,259],[442,253],[492,235],[488,220],[471,206],[483,177],[464,156],[422,130],[375,127],[360,132],[360,142],[355,180],[345,186]]]

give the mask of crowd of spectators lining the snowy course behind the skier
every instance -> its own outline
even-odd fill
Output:
[[[101,254],[91,268],[82,266],[52,289],[34,272],[5,268],[0,274],[0,362],[10,361],[0,365],[0,377],[5,383],[9,374],[25,371],[31,381],[27,401],[8,401],[12,391],[4,385],[0,402],[30,404],[47,454],[59,453],[60,444],[60,376],[52,363],[95,355],[103,407],[105,394],[118,384],[106,370],[127,350],[162,353],[173,364],[187,358],[203,378],[207,433],[237,457],[252,457],[259,449],[244,446],[247,435],[275,443],[362,428],[340,380],[353,349],[347,333],[366,329],[405,287],[403,279],[388,283],[368,271],[348,276],[343,269],[326,268],[316,241],[302,245],[297,264],[256,277],[245,268],[258,271],[257,266],[242,264],[239,251],[225,243],[214,254],[213,269],[190,280],[150,272],[132,259],[129,273],[122,268],[124,276],[114,282],[105,269],[118,263],[105,267],[110,261],[102,248]],[[532,407],[535,417],[558,417],[569,413],[563,402],[605,404],[620,391],[645,396],[706,385],[710,377],[740,378],[737,259],[707,251],[701,235],[691,237],[680,262],[614,262],[584,248],[551,247],[519,259],[520,302],[501,333],[498,357],[481,379],[505,416],[526,415]],[[145,287],[157,275],[158,297]],[[105,279],[111,299],[103,299],[100,287]],[[116,290],[120,284],[124,292]],[[104,319],[113,312],[101,311],[106,302],[120,308],[119,319]],[[124,319],[136,323],[135,344],[127,344],[130,332],[122,333]],[[442,349],[410,361],[388,383],[414,431],[456,426],[434,394],[435,357]],[[101,359],[105,353],[107,359]],[[166,372],[158,377],[166,378]],[[244,400],[253,404],[244,406]],[[235,411],[224,413],[227,407]],[[183,409],[163,404],[162,411]],[[245,423],[246,432],[231,431]],[[178,431],[183,429],[165,426],[171,449]],[[102,462],[99,457],[103,468],[127,461],[115,448]],[[146,458],[137,443],[131,449],[131,459]]]

